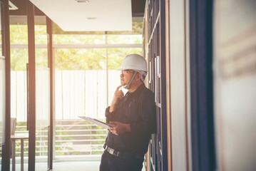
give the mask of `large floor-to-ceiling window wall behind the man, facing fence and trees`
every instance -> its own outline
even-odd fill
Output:
[[[27,26],[11,25],[11,116],[17,117],[17,131],[26,131],[26,63],[28,63]],[[105,109],[111,103],[113,92],[120,84],[116,71],[123,57],[143,53],[142,24],[133,24],[126,32],[63,32],[53,26],[53,53],[55,58],[55,142],[53,158],[73,159],[92,157],[100,160],[107,130],[78,118],[86,115],[105,121]],[[49,90],[46,26],[37,25],[36,34],[36,88]],[[41,75],[40,75],[41,74]],[[40,76],[39,76],[40,75]],[[39,78],[39,79],[38,79]],[[40,83],[43,81],[43,84]],[[40,88],[41,87],[41,88]],[[44,92],[44,93],[43,93]],[[37,105],[48,110],[48,96],[44,90]],[[19,101],[19,104],[17,103]],[[45,105],[42,105],[45,104]],[[43,107],[44,106],[44,107]],[[39,110],[39,108],[38,108]],[[44,111],[44,110],[43,110]],[[47,111],[37,118],[48,120]],[[44,117],[44,118],[43,118]],[[45,119],[46,117],[46,119]],[[36,123],[37,125],[42,125]],[[46,124],[47,125],[47,124]],[[45,128],[46,129],[46,128]],[[47,156],[46,130],[37,132],[36,156]],[[25,156],[28,142],[25,141]],[[18,152],[19,155],[19,152]]]

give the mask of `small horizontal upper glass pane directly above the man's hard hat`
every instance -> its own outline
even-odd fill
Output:
[[[108,35],[108,44],[142,44],[142,35]]]

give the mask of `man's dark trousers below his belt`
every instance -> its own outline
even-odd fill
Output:
[[[116,157],[106,150],[101,156],[100,171],[141,171],[144,157]]]

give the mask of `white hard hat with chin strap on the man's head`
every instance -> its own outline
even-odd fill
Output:
[[[143,56],[138,54],[130,54],[123,59],[121,70],[136,70],[147,72],[147,62]]]

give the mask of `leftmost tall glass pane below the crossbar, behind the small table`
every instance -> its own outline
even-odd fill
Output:
[[[18,29],[18,28],[17,28]],[[27,35],[26,35],[27,36]],[[19,38],[21,36],[16,36]],[[19,40],[12,40],[19,42]],[[27,136],[27,88],[26,63],[29,62],[27,48],[11,48],[11,118],[16,118],[16,135]],[[16,141],[16,157],[21,156],[21,142]],[[29,140],[24,140],[24,161],[29,156]],[[26,162],[25,162],[26,163]]]

